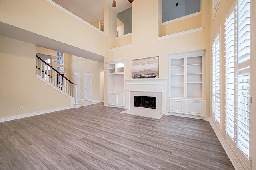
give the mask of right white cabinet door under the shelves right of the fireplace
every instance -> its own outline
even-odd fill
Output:
[[[204,116],[204,101],[186,100],[186,114]]]

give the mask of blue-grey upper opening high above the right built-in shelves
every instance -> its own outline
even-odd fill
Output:
[[[200,11],[200,0],[162,0],[162,22]]]

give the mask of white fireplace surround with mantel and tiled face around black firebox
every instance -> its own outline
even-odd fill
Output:
[[[126,108],[133,108],[133,96],[156,97],[156,112],[166,113],[166,81],[162,78],[126,80]],[[148,108],[143,108],[148,109]]]

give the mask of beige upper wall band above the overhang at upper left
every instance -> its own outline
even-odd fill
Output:
[[[46,0],[2,0],[0,11],[1,22],[105,56],[103,33]]]

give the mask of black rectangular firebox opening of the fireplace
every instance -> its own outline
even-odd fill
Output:
[[[133,96],[133,106],[156,109],[156,97]]]

